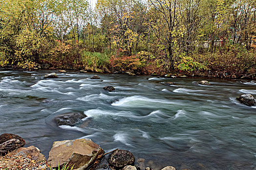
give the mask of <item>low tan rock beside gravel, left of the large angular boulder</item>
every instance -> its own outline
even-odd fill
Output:
[[[16,155],[16,156],[31,156],[33,160],[35,160],[36,163],[41,163],[46,161],[45,156],[40,152],[40,150],[34,146],[30,146],[27,148],[18,148],[8,155]]]

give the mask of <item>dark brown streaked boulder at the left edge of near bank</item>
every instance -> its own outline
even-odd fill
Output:
[[[18,135],[0,135],[0,154],[6,154],[25,145],[25,140]]]

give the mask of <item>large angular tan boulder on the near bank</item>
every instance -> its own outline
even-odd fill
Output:
[[[90,139],[75,139],[53,142],[47,160],[51,168],[62,168],[64,164],[73,170],[86,170],[91,165],[96,166],[96,162],[104,154],[103,149]],[[58,169],[58,168],[57,168]]]

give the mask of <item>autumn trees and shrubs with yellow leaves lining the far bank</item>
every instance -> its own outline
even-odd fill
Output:
[[[256,76],[256,0],[0,0],[0,66]]]

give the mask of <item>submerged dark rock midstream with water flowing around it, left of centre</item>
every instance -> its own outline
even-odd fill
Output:
[[[81,119],[86,118],[86,115],[83,113],[78,112],[70,112],[61,114],[54,118],[57,126],[61,125],[68,125],[68,126],[75,126],[77,122],[79,122]]]

